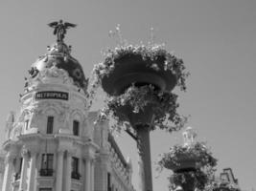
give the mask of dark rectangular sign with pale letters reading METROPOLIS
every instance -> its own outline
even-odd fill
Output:
[[[68,93],[57,91],[45,91],[35,93],[35,99],[62,99],[68,100]]]

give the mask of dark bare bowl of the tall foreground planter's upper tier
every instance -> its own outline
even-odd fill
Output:
[[[105,64],[111,64],[109,61]],[[123,94],[131,84],[151,84],[162,91],[171,91],[175,87],[175,75],[171,70],[164,70],[163,55],[151,60],[139,53],[127,53],[114,59],[114,62],[114,70],[102,79],[103,89],[111,96]]]

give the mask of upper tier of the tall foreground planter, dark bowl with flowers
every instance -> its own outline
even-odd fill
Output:
[[[151,84],[163,92],[175,85],[185,90],[185,67],[182,59],[163,46],[124,46],[108,50],[105,61],[93,69],[94,87],[102,85],[110,96],[119,96],[132,84]]]

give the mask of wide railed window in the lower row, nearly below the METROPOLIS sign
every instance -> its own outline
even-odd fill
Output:
[[[51,177],[54,173],[54,154],[42,154],[40,176]]]

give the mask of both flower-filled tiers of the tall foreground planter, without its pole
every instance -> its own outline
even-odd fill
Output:
[[[186,90],[188,74],[181,59],[160,45],[119,47],[105,55],[92,77],[93,89],[101,85],[108,95],[102,116],[111,114],[118,126],[144,123],[170,132],[183,126],[184,117],[176,113],[177,96],[171,93],[175,85]]]

